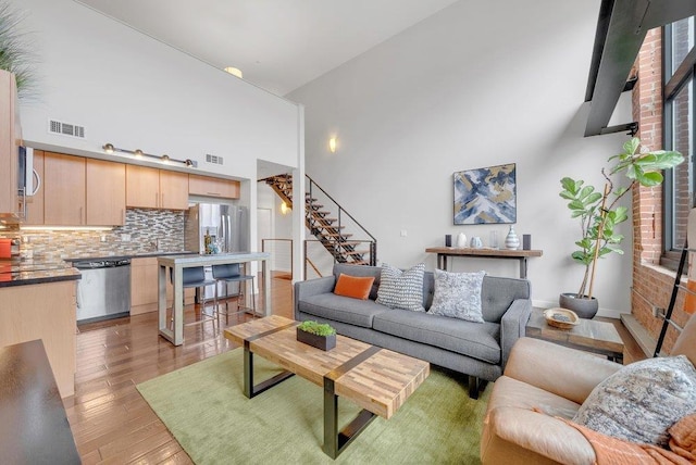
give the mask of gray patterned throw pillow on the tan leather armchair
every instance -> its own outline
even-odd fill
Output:
[[[607,436],[666,447],[667,430],[696,412],[696,369],[685,355],[624,366],[597,385],[573,422]]]

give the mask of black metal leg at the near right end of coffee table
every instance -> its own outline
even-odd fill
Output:
[[[326,455],[336,458],[374,417],[372,412],[362,410],[338,432],[338,395],[334,390],[334,380],[324,377],[324,453]]]

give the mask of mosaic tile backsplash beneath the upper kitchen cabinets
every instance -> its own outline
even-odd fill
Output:
[[[184,212],[128,209],[126,224],[111,230],[3,230],[0,237],[21,237],[22,256],[47,262],[80,256],[178,252],[184,251]]]

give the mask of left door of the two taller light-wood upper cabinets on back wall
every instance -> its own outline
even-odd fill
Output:
[[[102,196],[107,196],[102,192]],[[44,223],[51,226],[85,225],[85,159],[44,153]]]

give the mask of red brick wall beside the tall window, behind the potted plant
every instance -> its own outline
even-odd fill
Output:
[[[633,117],[639,124],[637,137],[651,150],[662,143],[662,32],[648,32],[636,61],[638,81],[633,89]],[[662,319],[652,316],[651,305],[667,309],[674,273],[659,266],[662,253],[662,189],[634,188],[633,191],[633,291],[632,314],[657,340]],[[682,311],[683,292],[674,310],[673,319],[685,324]],[[669,351],[676,339],[670,328],[663,344]]]

